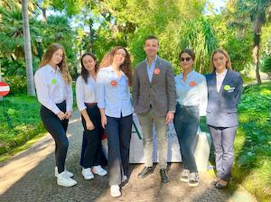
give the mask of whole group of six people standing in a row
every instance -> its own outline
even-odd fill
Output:
[[[81,73],[76,82],[77,106],[81,114],[85,142],[81,152],[82,175],[109,174],[112,197],[121,196],[121,186],[129,179],[129,148],[133,112],[143,132],[145,167],[138,173],[144,179],[154,172],[153,127],[158,142],[158,165],[161,182],[167,183],[167,124],[173,122],[182,155],[181,181],[190,187],[199,185],[199,174],[192,143],[200,116],[206,115],[214,144],[216,188],[226,188],[233,163],[233,143],[238,127],[237,107],[242,92],[242,78],[231,69],[226,50],[214,50],[211,73],[202,76],[194,70],[195,54],[191,49],[179,55],[182,73],[174,77],[173,66],[157,53],[155,36],[145,38],[146,59],[133,72],[130,54],[117,46],[98,65],[92,53],[81,57]],[[41,107],[42,123],[55,141],[55,176],[64,187],[77,184],[65,169],[68,150],[66,131],[72,111],[71,77],[65,51],[53,43],[45,52],[40,69],[34,75]],[[132,87],[133,106],[130,98]],[[134,109],[133,109],[134,108]],[[107,170],[101,167],[101,137],[107,134]]]

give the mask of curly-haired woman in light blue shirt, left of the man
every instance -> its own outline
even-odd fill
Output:
[[[104,63],[109,66],[105,67]],[[108,141],[110,193],[112,197],[119,197],[119,185],[128,177],[133,123],[129,90],[132,83],[131,60],[125,48],[115,47],[102,60],[97,82],[98,108]]]

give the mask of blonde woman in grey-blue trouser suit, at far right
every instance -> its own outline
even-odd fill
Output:
[[[238,103],[243,80],[238,72],[231,69],[229,54],[224,49],[213,51],[210,66],[212,72],[206,76],[206,122],[214,144],[217,170],[217,177],[211,184],[216,188],[226,188],[234,159],[233,144],[238,129]]]

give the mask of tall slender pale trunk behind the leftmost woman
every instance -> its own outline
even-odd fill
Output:
[[[22,1],[22,14],[23,14],[24,57],[25,57],[26,78],[27,78],[27,95],[35,96],[35,89],[34,89],[34,82],[33,82],[31,38],[30,38],[29,20],[28,20],[28,0]]]

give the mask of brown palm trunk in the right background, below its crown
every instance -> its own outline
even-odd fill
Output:
[[[262,83],[261,77],[259,74],[259,44],[260,44],[260,35],[257,33],[254,33],[254,45],[253,45],[253,50],[252,50],[252,57],[253,57],[253,62],[256,67],[256,78],[257,78],[257,84],[260,85]]]

